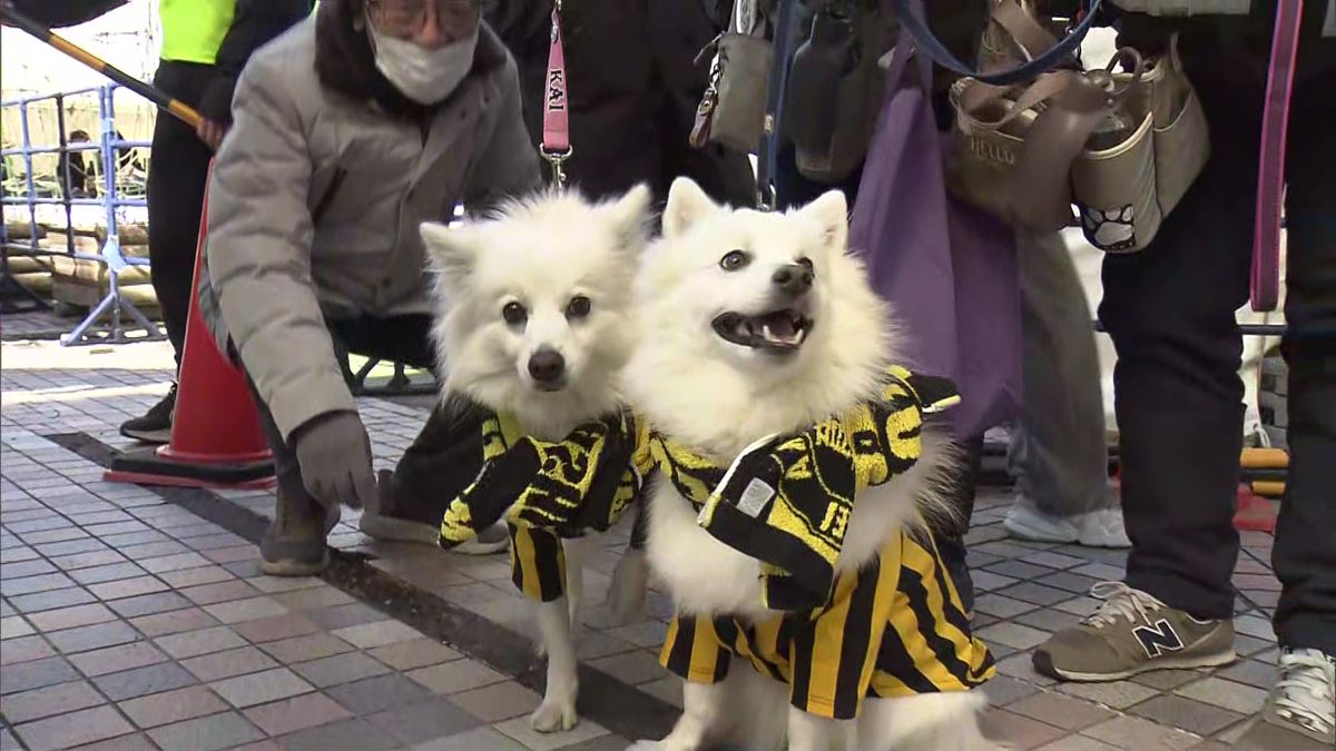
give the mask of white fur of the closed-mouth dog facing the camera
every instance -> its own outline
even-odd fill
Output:
[[[466,397],[513,414],[526,434],[548,441],[619,409],[616,376],[631,350],[629,290],[648,242],[648,207],[643,186],[600,204],[554,191],[504,204],[485,220],[422,224],[437,271],[433,333],[444,398]],[[577,295],[589,298],[589,313],[568,317]],[[502,318],[512,302],[528,311],[522,325]],[[565,361],[558,390],[545,390],[529,373],[540,347]],[[536,604],[548,686],[530,722],[541,732],[570,730],[578,722],[572,629],[589,545],[589,537],[562,541],[566,596]],[[609,599],[621,617],[644,600],[644,569],[643,560],[617,568]]]

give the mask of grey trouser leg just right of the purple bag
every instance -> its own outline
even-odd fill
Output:
[[[1100,358],[1081,279],[1058,234],[1019,233],[1017,255],[1025,408],[1007,456],[1017,493],[1053,516],[1113,506]]]

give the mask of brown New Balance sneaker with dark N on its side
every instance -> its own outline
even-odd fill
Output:
[[[1058,680],[1122,680],[1236,659],[1232,620],[1197,620],[1121,581],[1101,581],[1090,593],[1104,600],[1100,611],[1039,645],[1034,669]]]

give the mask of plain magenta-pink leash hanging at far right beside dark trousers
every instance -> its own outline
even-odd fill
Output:
[[[1280,302],[1280,211],[1285,196],[1285,132],[1295,87],[1295,56],[1304,0],[1280,0],[1271,43],[1267,103],[1261,119],[1257,164],[1257,212],[1253,229],[1252,309],[1275,310]]]

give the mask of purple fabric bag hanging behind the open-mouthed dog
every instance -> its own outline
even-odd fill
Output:
[[[1013,231],[950,198],[946,139],[919,80],[927,65],[902,37],[854,204],[850,246],[902,327],[902,361],[950,377],[958,438],[981,436],[1021,406],[1021,291]]]

